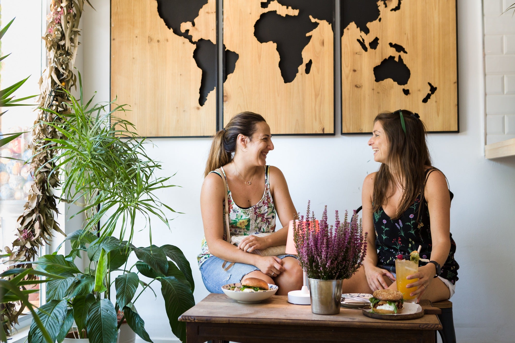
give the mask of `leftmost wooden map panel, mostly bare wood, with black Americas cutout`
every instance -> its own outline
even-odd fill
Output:
[[[215,44],[216,0],[111,0],[111,96],[141,136],[216,132]]]

